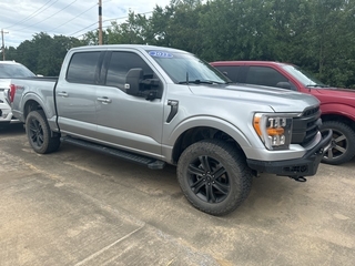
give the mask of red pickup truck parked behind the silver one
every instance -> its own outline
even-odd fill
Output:
[[[342,164],[355,155],[355,90],[325,85],[296,65],[272,61],[219,61],[211,65],[233,82],[308,93],[321,101],[323,130],[333,130],[332,149],[323,161]]]

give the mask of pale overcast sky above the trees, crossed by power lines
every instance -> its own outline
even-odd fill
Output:
[[[171,0],[102,0],[102,27],[111,21],[123,22],[129,11],[146,13]],[[36,33],[80,38],[95,30],[99,21],[99,0],[0,0],[0,30],[6,47],[18,47],[32,40]],[[2,43],[0,43],[0,47]]]

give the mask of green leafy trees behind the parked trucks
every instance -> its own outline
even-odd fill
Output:
[[[290,62],[323,82],[355,89],[355,0],[172,0],[152,14],[130,12],[103,32],[104,44],[172,47],[206,61]],[[98,31],[82,41],[38,33],[7,59],[41,74],[58,74],[71,47],[98,44]]]

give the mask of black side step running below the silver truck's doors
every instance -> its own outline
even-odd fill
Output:
[[[108,147],[108,146],[103,146],[100,144],[95,144],[92,142],[88,142],[88,141],[83,141],[83,140],[79,140],[79,139],[74,139],[71,136],[64,136],[60,139],[61,142],[67,142],[80,147],[84,147],[84,149],[89,149],[95,152],[100,152],[103,154],[108,154],[111,156],[115,156],[119,158],[123,158],[125,161],[130,161],[133,163],[139,163],[139,164],[143,164],[146,165],[149,168],[152,170],[161,170],[165,166],[165,162],[156,160],[156,158],[152,158],[152,157],[148,157],[148,156],[143,156],[143,155],[139,155],[135,153],[131,153],[131,152],[126,152],[126,151],[122,151],[122,150],[118,150],[114,147]]]

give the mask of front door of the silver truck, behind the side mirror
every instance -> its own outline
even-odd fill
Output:
[[[111,145],[161,156],[163,101],[148,101],[125,92],[130,69],[143,69],[145,76],[153,70],[136,53],[113,51],[106,60],[104,84],[97,90],[97,123],[100,139]],[[161,88],[162,89],[162,88]]]

